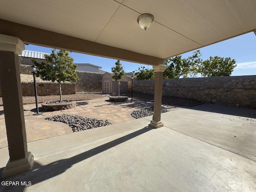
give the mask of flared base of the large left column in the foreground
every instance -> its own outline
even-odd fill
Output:
[[[34,155],[28,152],[27,156],[23,159],[10,162],[8,161],[6,167],[2,172],[2,178],[14,176],[16,174],[32,169],[34,165]]]

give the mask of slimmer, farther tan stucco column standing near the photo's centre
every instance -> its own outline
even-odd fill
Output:
[[[159,128],[164,126],[161,122],[161,106],[162,106],[162,88],[163,88],[163,72],[165,65],[153,66],[155,74],[155,90],[154,90],[154,115],[150,125]]]

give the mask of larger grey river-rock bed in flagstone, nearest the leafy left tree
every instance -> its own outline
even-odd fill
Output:
[[[111,125],[108,120],[92,119],[70,114],[55,115],[53,117],[46,118],[46,120],[66,123],[72,128],[73,132]]]

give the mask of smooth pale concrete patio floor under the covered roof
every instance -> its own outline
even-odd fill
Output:
[[[6,191],[256,191],[256,110],[212,104],[28,143],[32,170]],[[0,173],[8,148],[0,149]],[[5,181],[30,186],[2,186]]]

